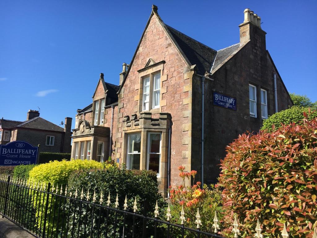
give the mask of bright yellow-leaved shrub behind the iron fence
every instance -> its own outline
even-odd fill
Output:
[[[56,188],[56,186],[58,186],[59,190],[61,188],[61,185],[63,185],[63,189],[65,189],[65,185],[67,184],[68,181],[68,177],[69,175],[78,169],[92,169],[92,168],[104,168],[105,166],[110,166],[110,165],[105,165],[102,164],[100,162],[94,161],[94,160],[71,160],[71,161],[53,161],[53,162],[49,162],[46,164],[40,164],[36,167],[34,167],[30,172],[29,172],[29,181],[36,183],[51,183],[51,189],[54,186]],[[47,188],[47,186],[46,186]],[[41,216],[44,217],[44,214],[42,214],[42,206],[44,204],[45,206],[45,201],[46,201],[46,197],[44,197],[43,195],[39,195],[39,197],[37,198],[37,202],[36,199],[34,201],[33,206],[36,207],[39,212],[38,212],[38,216],[41,218]],[[51,197],[51,195],[49,196],[49,211],[54,209],[54,205],[55,205],[55,197],[53,196],[53,198]],[[63,203],[63,201],[59,201]],[[55,216],[54,216],[55,215]],[[43,221],[44,219],[38,219],[38,226],[43,227]],[[58,214],[54,214],[53,212],[50,213],[50,217],[48,217],[48,221],[49,222],[49,227],[48,227],[48,231],[49,230],[56,230],[57,225],[59,225],[59,227],[61,226],[59,221],[59,224],[57,223],[58,221]],[[54,221],[54,222],[53,222]]]

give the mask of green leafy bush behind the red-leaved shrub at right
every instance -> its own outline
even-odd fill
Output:
[[[317,111],[311,111],[309,108],[304,108],[300,106],[293,106],[289,109],[274,113],[269,116],[268,119],[263,121],[263,126],[261,130],[274,131],[282,126],[282,124],[287,125],[291,122],[295,122],[296,124],[301,124],[304,116],[303,113],[307,113],[308,120],[311,120],[317,117]],[[274,124],[274,129],[272,128]]]

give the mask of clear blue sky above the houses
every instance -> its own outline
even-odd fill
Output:
[[[57,125],[74,118],[91,103],[100,72],[119,83],[152,4],[166,24],[215,50],[239,42],[238,25],[250,8],[262,18],[288,91],[317,101],[317,1],[12,0],[0,3],[0,116],[25,120],[39,107]]]

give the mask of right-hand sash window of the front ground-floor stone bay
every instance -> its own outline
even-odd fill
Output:
[[[161,134],[149,133],[147,141],[147,169],[153,170],[159,176],[161,161]]]

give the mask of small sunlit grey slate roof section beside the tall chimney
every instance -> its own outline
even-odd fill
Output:
[[[244,44],[245,45],[245,44]],[[234,56],[244,45],[240,46],[240,43],[236,43],[227,48],[217,51],[215,61],[212,65],[210,73],[213,74],[217,71],[224,63],[226,63],[232,56]]]

